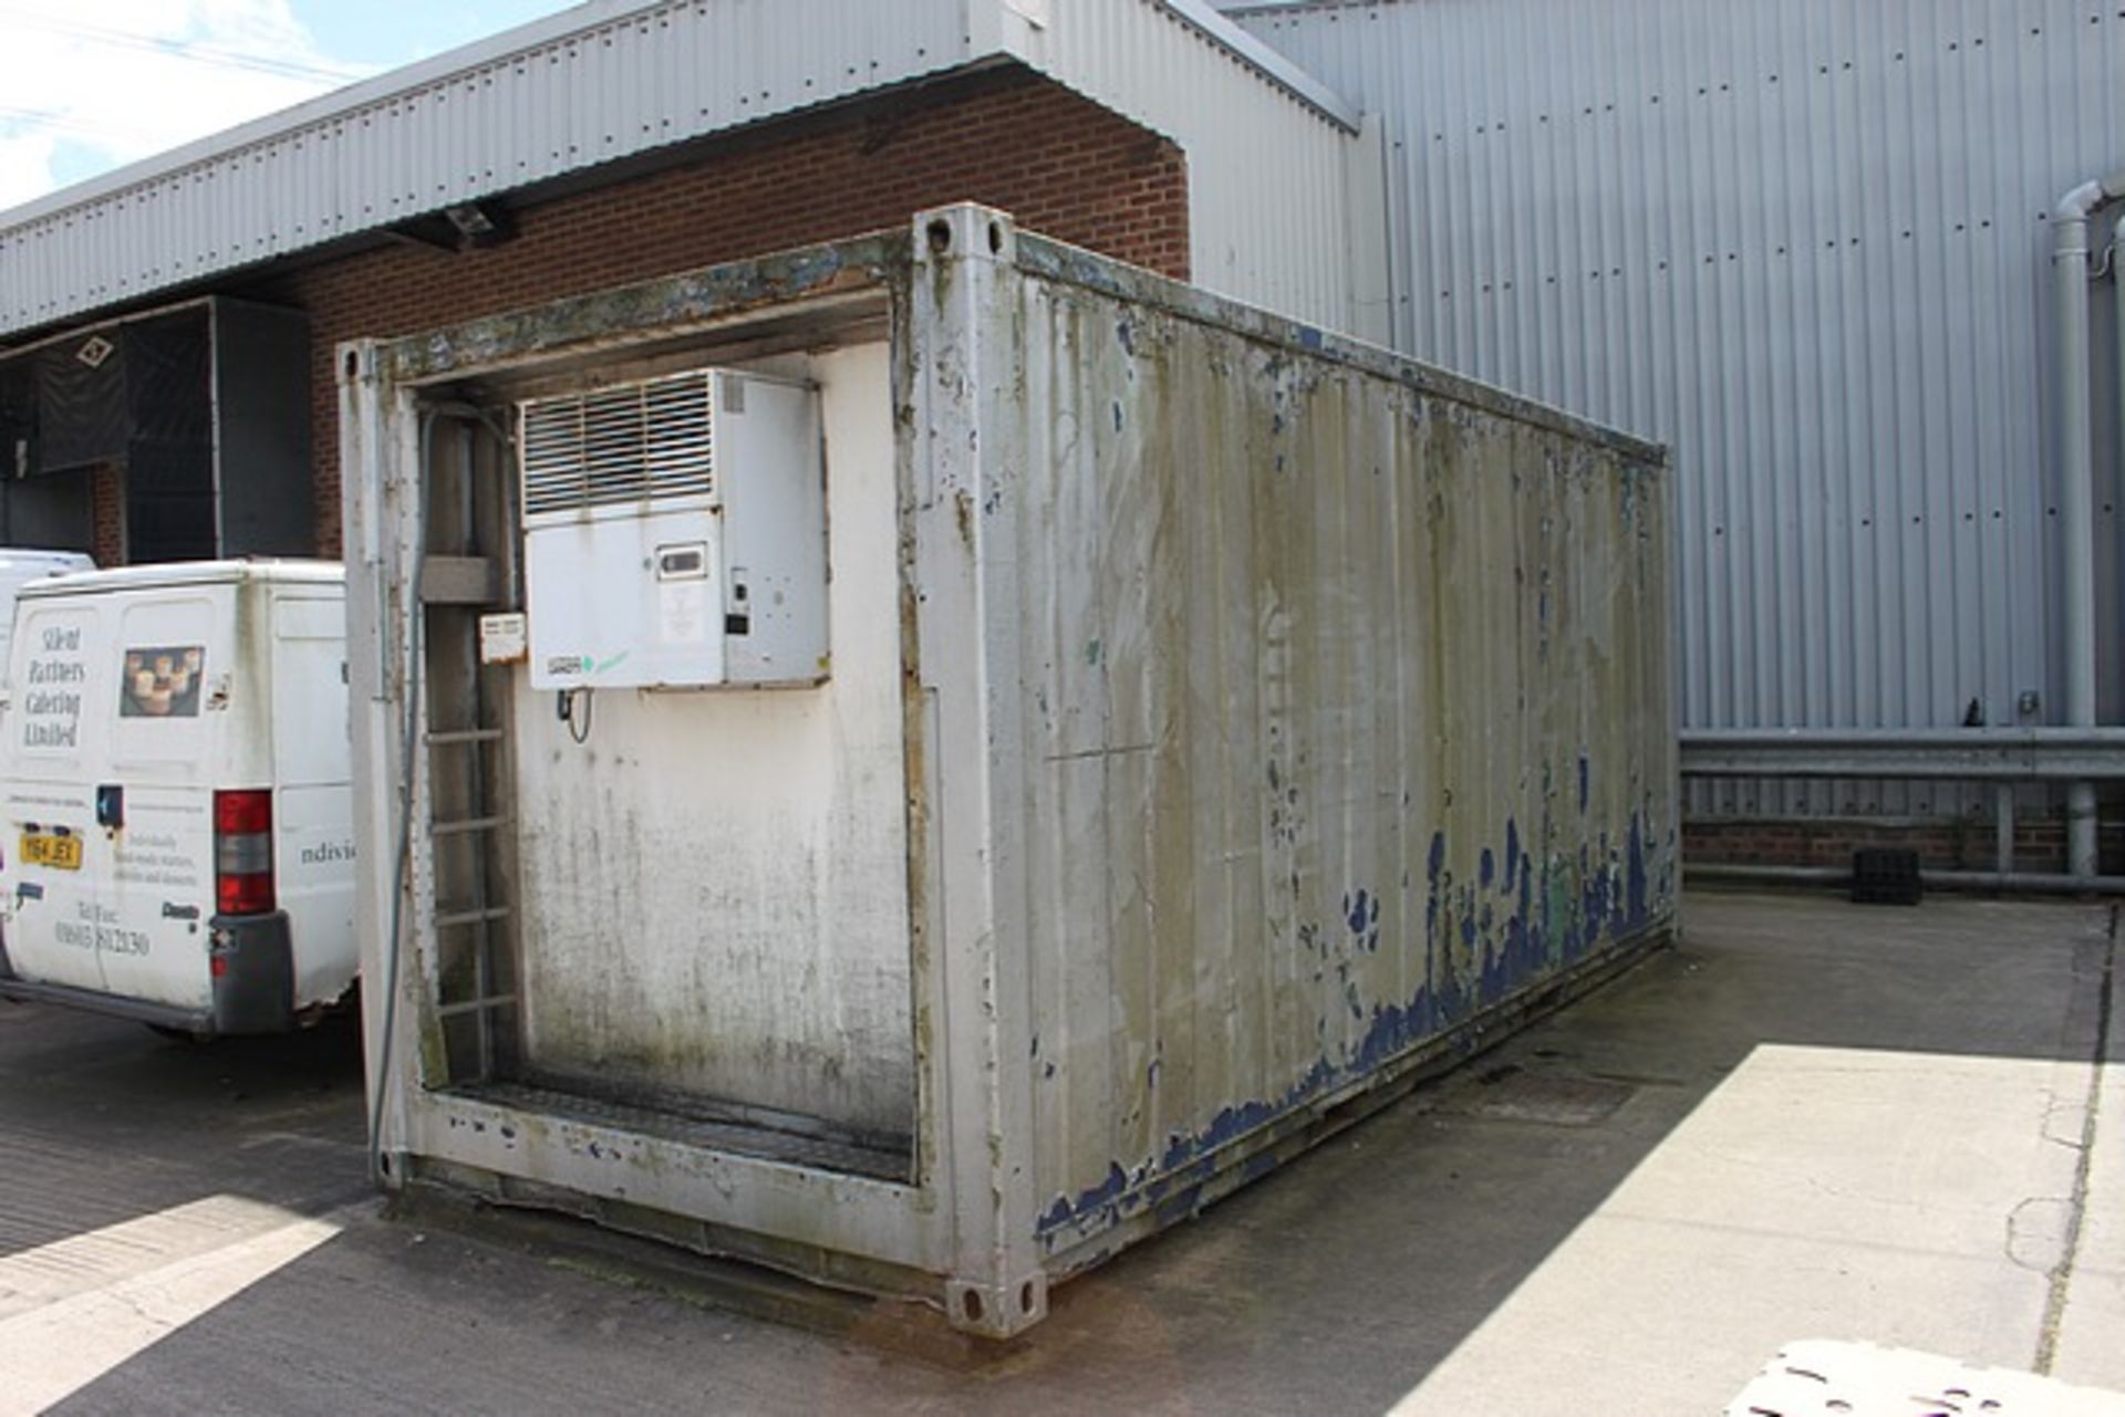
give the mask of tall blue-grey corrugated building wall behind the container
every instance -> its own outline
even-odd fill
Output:
[[[1955,724],[1970,699],[2004,724],[2021,690],[2051,718],[2046,215],[2125,166],[2125,8],[1407,0],[1239,19],[1386,123],[1402,348],[1672,442],[1685,724]],[[2106,610],[2106,644],[2114,625]]]

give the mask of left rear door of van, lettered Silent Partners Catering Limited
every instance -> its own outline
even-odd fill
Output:
[[[0,890],[8,964],[23,979],[102,990],[98,928],[96,716],[113,693],[94,599],[21,601],[6,716]]]

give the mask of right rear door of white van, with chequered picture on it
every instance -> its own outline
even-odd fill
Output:
[[[178,1009],[212,1009],[215,769],[230,767],[236,588],[172,586],[115,597],[117,671],[98,890],[104,988]],[[261,771],[255,763],[238,771]],[[264,786],[264,780],[259,782]],[[113,816],[121,816],[113,822]]]

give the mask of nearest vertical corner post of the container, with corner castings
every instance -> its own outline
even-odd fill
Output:
[[[952,206],[914,219],[916,625],[941,754],[933,803],[941,914],[935,1126],[952,1213],[946,1313],[1007,1336],[1048,1313],[1033,1219],[1033,1037],[1026,958],[1022,718],[1012,550],[1016,232]]]

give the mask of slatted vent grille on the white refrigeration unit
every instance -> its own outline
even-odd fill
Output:
[[[527,399],[525,516],[714,497],[714,382],[708,370]]]

